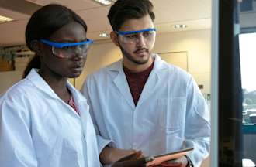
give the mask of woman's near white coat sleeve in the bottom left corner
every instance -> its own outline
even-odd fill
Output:
[[[36,153],[25,107],[14,99],[0,100],[1,167],[36,167]]]

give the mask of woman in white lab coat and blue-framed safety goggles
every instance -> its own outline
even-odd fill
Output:
[[[99,167],[131,153],[114,166],[145,163],[134,161],[140,152],[106,147],[85,97],[67,81],[85,65],[92,44],[86,32],[81,17],[62,5],[46,5],[29,19],[26,44],[36,55],[25,78],[0,98],[1,167]]]

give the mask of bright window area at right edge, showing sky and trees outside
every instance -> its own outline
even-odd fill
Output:
[[[256,29],[239,36],[240,68],[243,89],[243,124],[256,125]],[[256,126],[254,126],[256,127]]]

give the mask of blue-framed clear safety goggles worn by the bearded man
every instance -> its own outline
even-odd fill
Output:
[[[122,43],[133,44],[140,41],[141,37],[144,38],[145,42],[153,42],[156,36],[157,29],[141,29],[137,31],[116,31],[119,35],[119,39]]]

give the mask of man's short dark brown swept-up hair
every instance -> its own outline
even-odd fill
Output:
[[[153,8],[149,0],[117,0],[109,9],[108,19],[112,29],[118,31],[127,19],[140,19],[148,14],[154,21]]]

